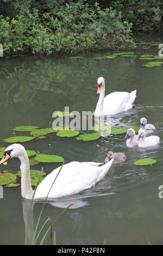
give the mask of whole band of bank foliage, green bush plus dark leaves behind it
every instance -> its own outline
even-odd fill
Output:
[[[134,48],[133,31],[161,27],[162,1],[2,0],[4,54]]]

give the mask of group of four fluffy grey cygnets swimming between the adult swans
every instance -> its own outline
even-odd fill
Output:
[[[146,135],[154,132],[155,126],[153,124],[147,124],[147,119],[145,117],[140,119],[140,130],[138,135],[135,134],[134,129],[128,129],[125,138],[127,139],[126,145],[128,148],[134,148],[136,146],[140,148],[152,147],[160,142],[160,138],[158,136],[149,136],[146,138]],[[108,156],[105,159],[105,162],[114,159],[112,164],[121,163],[126,160],[126,155],[124,153],[112,153],[112,151],[108,152]]]

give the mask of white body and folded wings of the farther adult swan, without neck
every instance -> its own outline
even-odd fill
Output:
[[[104,99],[104,114],[117,114],[132,108],[132,103],[136,97],[136,90],[127,92],[110,93]]]

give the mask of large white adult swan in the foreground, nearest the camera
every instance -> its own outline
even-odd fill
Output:
[[[21,192],[22,197],[32,199],[34,191],[30,183],[29,159],[25,148],[21,144],[12,144],[4,151],[4,157],[0,164],[8,161],[12,157],[18,157],[21,161]],[[45,198],[49,192],[48,198],[64,197],[86,190],[104,178],[108,172],[112,161],[99,166],[95,162],[70,162],[65,164],[59,173],[54,186],[51,188],[60,167],[54,169],[37,187],[34,199]]]

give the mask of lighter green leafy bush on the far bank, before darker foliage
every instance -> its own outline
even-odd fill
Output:
[[[135,47],[132,23],[112,8],[102,10],[85,0],[60,4],[57,13],[20,10],[12,19],[0,16],[0,42],[6,53],[77,52],[92,48]]]

